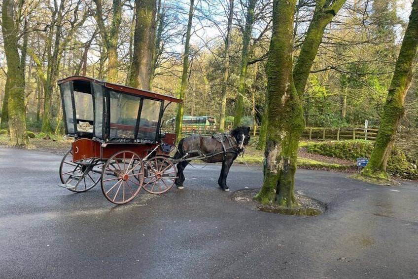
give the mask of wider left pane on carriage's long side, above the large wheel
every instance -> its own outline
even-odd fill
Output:
[[[140,98],[110,91],[110,137],[134,139]]]

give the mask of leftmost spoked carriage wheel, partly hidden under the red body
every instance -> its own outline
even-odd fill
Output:
[[[101,161],[98,159],[72,162],[72,150],[70,149],[60,164],[62,186],[76,193],[92,189],[99,183],[102,176],[100,163]]]

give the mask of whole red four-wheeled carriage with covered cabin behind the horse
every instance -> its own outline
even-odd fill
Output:
[[[164,193],[174,185],[169,158],[175,135],[161,133],[171,96],[87,77],[58,82],[66,134],[74,137],[60,165],[60,186],[85,192],[101,182],[109,201],[122,204],[141,188]]]

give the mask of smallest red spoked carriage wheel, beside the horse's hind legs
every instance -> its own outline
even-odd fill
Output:
[[[174,163],[164,157],[156,156],[145,161],[146,176],[143,189],[151,194],[162,194],[169,191],[176,179]]]

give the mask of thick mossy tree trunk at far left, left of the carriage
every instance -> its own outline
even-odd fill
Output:
[[[25,148],[29,145],[29,137],[26,132],[25,78],[19,58],[13,5],[13,0],[3,0],[1,7],[1,30],[7,62],[6,83],[8,83],[9,92],[8,124],[11,146]]]

